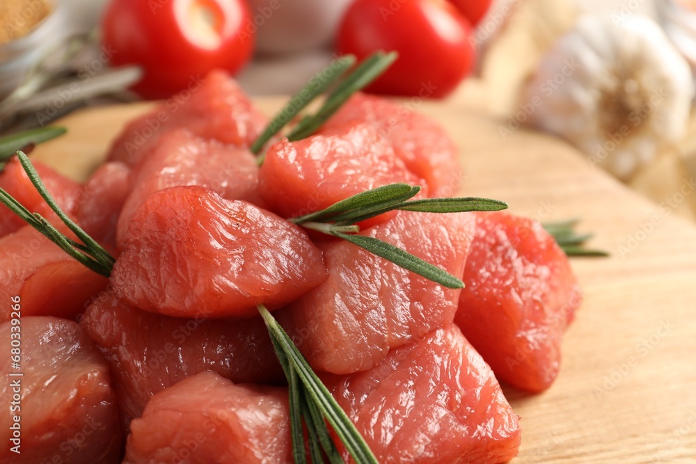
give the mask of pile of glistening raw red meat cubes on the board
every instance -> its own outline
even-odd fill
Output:
[[[268,120],[225,74],[170,103],[132,121],[84,185],[35,163],[116,257],[110,278],[0,207],[0,344],[19,296],[23,374],[20,411],[0,385],[0,461],[290,463],[287,386],[258,303],[379,462],[513,458],[519,417],[498,381],[548,388],[580,304],[553,237],[505,213],[362,224],[466,284],[446,289],[285,220],[394,182],[458,194],[459,155],[435,122],[355,95],[319,134],[271,142],[258,168],[248,147]],[[0,187],[58,224],[16,159]],[[22,454],[8,446],[13,415]]]

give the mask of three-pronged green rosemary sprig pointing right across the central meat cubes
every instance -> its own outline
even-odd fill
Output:
[[[393,262],[413,273],[421,275],[450,289],[464,287],[464,282],[443,269],[411,255],[386,241],[373,237],[355,235],[359,232],[355,224],[365,219],[379,216],[388,211],[402,209],[404,211],[419,211],[424,213],[457,213],[465,211],[500,211],[507,208],[507,203],[488,198],[428,198],[426,200],[410,200],[418,191],[419,186],[409,184],[389,184],[353,195],[345,200],[336,202],[326,209],[306,214],[289,221],[327,235],[333,235],[349,241],[364,250]]]

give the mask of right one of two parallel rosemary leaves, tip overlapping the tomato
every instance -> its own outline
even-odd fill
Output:
[[[345,81],[339,84],[326,99],[324,106],[310,120],[303,122],[300,127],[296,127],[290,132],[287,139],[298,141],[314,134],[354,93],[370,85],[396,61],[398,56],[395,51],[388,54],[378,51],[372,54]]]

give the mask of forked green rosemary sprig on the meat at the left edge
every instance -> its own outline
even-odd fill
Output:
[[[77,236],[82,243],[69,239],[65,237],[61,232],[59,232],[51,223],[49,223],[40,214],[31,213],[23,205],[19,204],[9,193],[0,189],[0,202],[13,211],[19,218],[22,218],[27,224],[31,225],[35,230],[38,230],[44,237],[56,243],[65,253],[68,253],[78,262],[84,264],[92,271],[109,277],[111,275],[111,269],[113,268],[113,263],[116,259],[113,259],[109,252],[104,250],[102,246],[97,243],[92,237],[90,237],[84,230],[79,227],[76,223],[72,221],[65,214],[60,207],[56,204],[50,193],[48,193],[46,186],[41,181],[35,168],[29,161],[29,157],[22,152],[17,152],[17,157],[19,158],[19,163],[22,164],[22,168],[26,171],[26,175],[29,176],[29,180],[41,195],[41,197],[47,202],[49,207],[58,215],[58,218],[63,221],[63,223],[72,230],[72,232]]]

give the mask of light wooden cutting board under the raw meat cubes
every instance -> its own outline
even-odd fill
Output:
[[[259,104],[272,113],[280,100]],[[75,179],[103,159],[124,123],[147,106],[91,109],[62,121],[67,136],[33,156]],[[521,415],[514,463],[696,463],[696,227],[672,213],[696,196],[655,205],[592,168],[554,138],[473,111],[424,104],[461,147],[461,192],[507,200],[541,221],[579,217],[608,259],[573,259],[585,302],[544,394],[506,390]],[[670,205],[670,202],[672,204]]]

